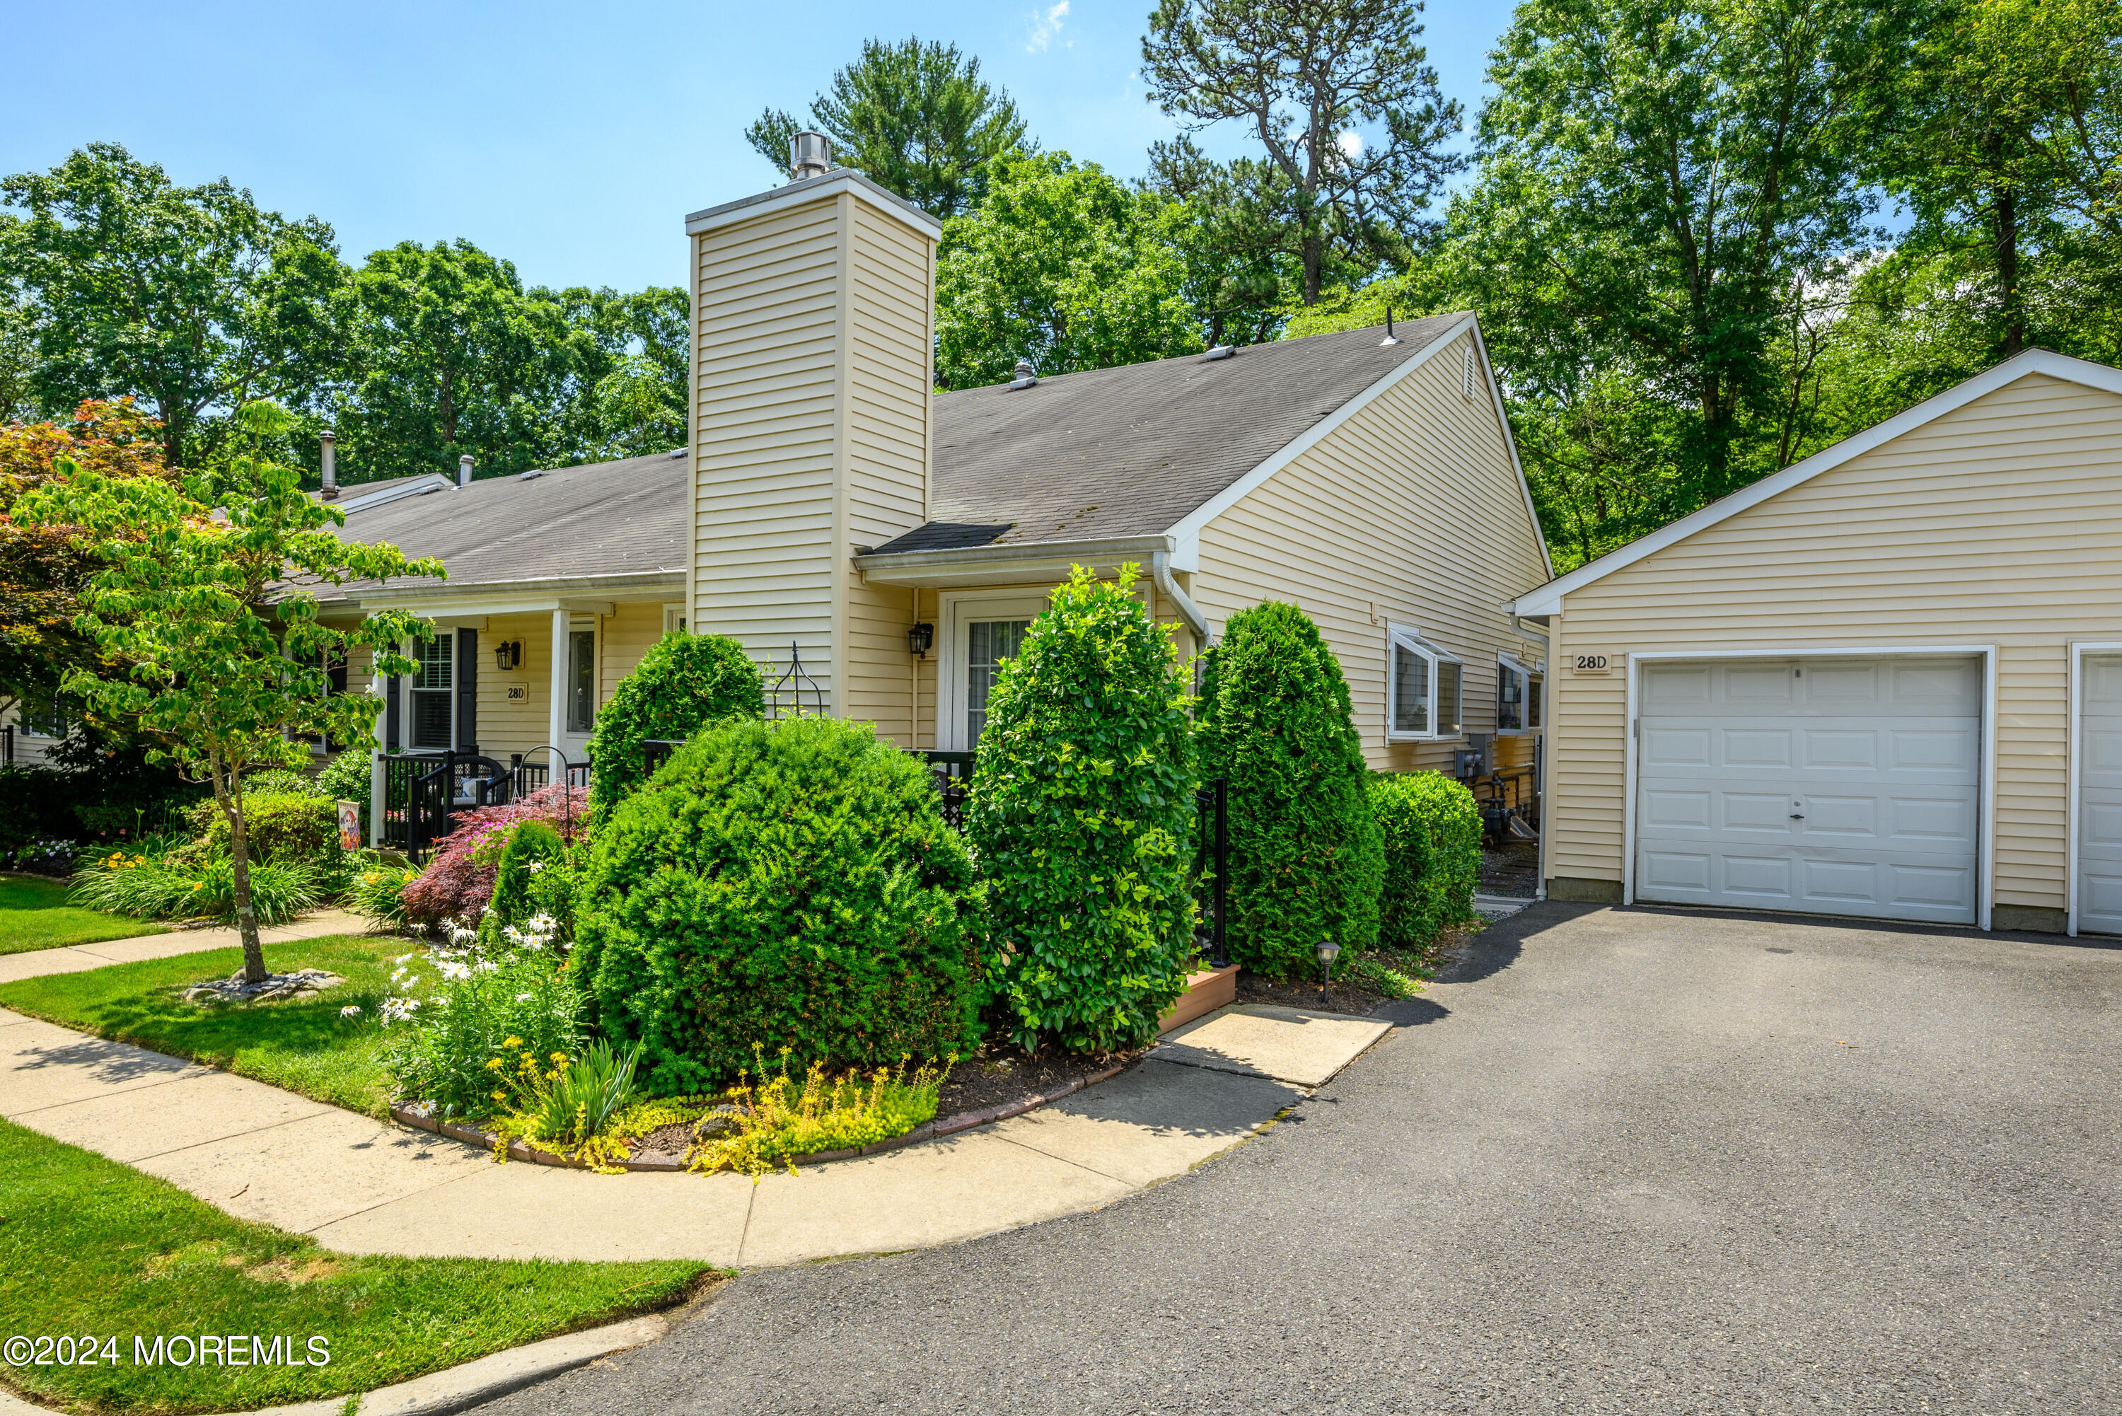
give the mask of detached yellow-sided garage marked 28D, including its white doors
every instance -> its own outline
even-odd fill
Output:
[[[1519,594],[1549,898],[2122,934],[2118,469],[2024,350]]]

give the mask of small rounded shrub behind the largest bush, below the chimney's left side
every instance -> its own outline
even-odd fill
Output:
[[[609,813],[641,785],[641,743],[683,741],[724,718],[764,718],[760,669],[721,635],[664,635],[596,709],[590,732],[590,813]]]

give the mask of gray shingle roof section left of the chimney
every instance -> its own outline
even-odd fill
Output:
[[[690,467],[683,452],[654,452],[533,478],[484,478],[356,512],[340,535],[390,541],[407,556],[437,556],[450,586],[677,573],[685,569]],[[435,584],[403,580],[393,588]],[[318,599],[363,588],[369,586],[325,586]]]

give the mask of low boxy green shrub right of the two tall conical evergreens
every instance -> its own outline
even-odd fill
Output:
[[[1473,919],[1481,809],[1443,773],[1373,773],[1369,796],[1386,843],[1377,943],[1422,949],[1441,928]]]

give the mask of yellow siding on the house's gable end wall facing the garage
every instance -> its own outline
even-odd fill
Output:
[[[1375,769],[1449,771],[1462,745],[1386,741],[1388,620],[1464,660],[1473,732],[1494,726],[1496,654],[1534,654],[1502,603],[1547,565],[1494,403],[1485,388],[1462,395],[1466,348],[1460,335],[1201,531],[1193,597],[1210,624],[1269,599],[1309,614]],[[1496,752],[1530,760],[1532,739],[1496,739]]]

